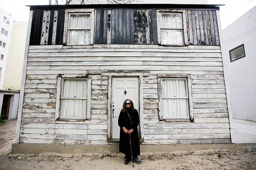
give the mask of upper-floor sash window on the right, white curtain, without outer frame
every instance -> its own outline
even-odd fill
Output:
[[[183,45],[181,13],[160,13],[161,44]]]

